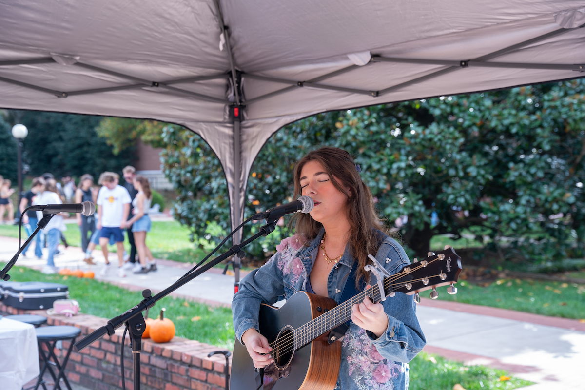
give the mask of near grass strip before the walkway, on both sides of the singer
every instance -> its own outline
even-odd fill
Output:
[[[4,267],[4,263],[0,264]],[[139,291],[106,284],[94,279],[78,279],[61,275],[44,275],[26,267],[13,267],[12,281],[44,281],[66,284],[71,299],[80,303],[81,312],[110,319],[142,301]],[[229,308],[209,308],[201,303],[166,297],[150,310],[149,317],[155,318],[160,308],[166,308],[165,316],[173,320],[177,336],[198,340],[219,348],[232,350],[235,332],[232,325],[232,311]],[[459,383],[467,390],[472,389],[515,389],[531,382],[510,378],[507,372],[481,365],[466,366],[448,361],[439,356],[420,353],[410,363],[410,386],[412,389],[452,389]],[[505,379],[504,381],[500,378]]]

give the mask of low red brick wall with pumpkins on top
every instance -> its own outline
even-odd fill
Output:
[[[0,303],[0,314],[37,314],[47,317],[47,325],[70,325],[81,329],[77,340],[106,325],[107,320],[91,315],[74,317],[50,316],[46,310],[19,310]],[[113,336],[104,336],[80,352],[71,352],[66,375],[71,382],[95,390],[118,390],[122,388],[121,341],[123,327]],[[124,375],[126,389],[133,388],[132,351],[129,336],[124,347]],[[61,358],[69,344],[55,348]],[[169,343],[154,343],[142,340],[140,353],[141,389],[144,390],[222,390],[225,388],[225,357],[218,354],[207,357],[221,348],[199,343],[195,340],[175,337]],[[231,357],[229,359],[231,365]]]

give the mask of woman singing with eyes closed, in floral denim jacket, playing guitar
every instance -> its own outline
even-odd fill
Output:
[[[266,264],[242,279],[232,301],[236,337],[254,367],[274,361],[267,339],[258,332],[261,303],[273,305],[298,291],[340,303],[346,282],[356,289],[373,284],[372,275],[364,270],[372,263],[368,254],[375,255],[391,275],[410,264],[402,246],[386,233],[360,172],[349,153],[333,147],[311,151],[297,162],[295,198],[310,196],[314,208],[308,214],[295,214],[294,236],[283,240]],[[356,262],[356,277],[347,280]],[[408,388],[408,362],[426,341],[414,298],[396,294],[380,303],[365,298],[353,305],[352,322],[339,342],[342,355],[335,388],[403,390]]]

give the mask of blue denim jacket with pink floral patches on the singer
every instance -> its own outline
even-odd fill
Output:
[[[233,326],[238,340],[242,340],[242,334],[247,329],[259,329],[261,303],[273,305],[281,299],[290,298],[295,292],[306,291],[307,275],[315,263],[323,233],[321,229],[308,246],[303,246],[296,235],[284,239],[277,245],[277,253],[266,264],[242,279],[238,294],[232,301]],[[376,260],[391,275],[410,263],[402,246],[388,236],[381,244]],[[338,303],[353,262],[346,248],[339,263],[329,272],[329,298]],[[375,283],[375,277],[370,277]],[[408,362],[426,343],[415,313],[414,299],[411,295],[397,293],[382,303],[388,315],[388,327],[378,339],[370,337],[373,333],[350,323],[341,341],[342,356],[336,389],[408,389]]]

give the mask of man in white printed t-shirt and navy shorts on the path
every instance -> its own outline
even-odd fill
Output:
[[[113,237],[118,250],[118,276],[126,276],[122,265],[124,263],[124,234],[128,213],[130,212],[130,194],[128,190],[118,185],[119,175],[114,172],[104,172],[99,176],[99,184],[103,187],[98,192],[98,221],[96,227],[100,230],[99,246],[106,260],[104,268],[99,272],[104,276],[109,271],[108,242]]]

